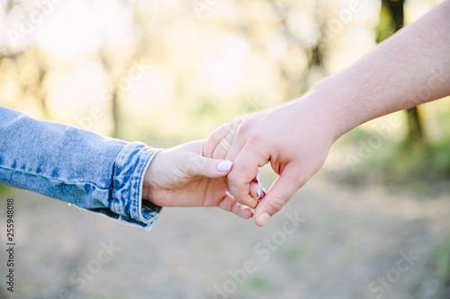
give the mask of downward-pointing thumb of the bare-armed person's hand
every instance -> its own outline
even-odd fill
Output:
[[[294,173],[293,169],[286,169],[275,180],[266,197],[257,204],[254,215],[255,224],[264,226],[270,217],[281,210],[303,185],[304,182],[299,178],[298,173]]]

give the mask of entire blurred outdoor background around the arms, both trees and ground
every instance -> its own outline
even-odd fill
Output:
[[[300,97],[441,2],[0,0],[0,105],[174,146]],[[0,219],[17,206],[16,297],[450,298],[449,112],[348,133],[263,229],[166,208],[148,233],[0,186]]]

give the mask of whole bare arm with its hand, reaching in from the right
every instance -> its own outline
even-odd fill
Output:
[[[383,41],[344,71],[321,80],[302,98],[215,130],[202,154],[234,161],[229,189],[256,207],[266,224],[320,170],[330,146],[368,120],[450,94],[450,0]],[[220,152],[222,138],[231,143]],[[248,182],[271,163],[279,178],[257,206]]]

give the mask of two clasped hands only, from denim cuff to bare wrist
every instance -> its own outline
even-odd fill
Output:
[[[163,150],[148,166],[142,198],[161,207],[220,207],[263,226],[325,162],[335,139],[320,112],[311,101],[291,101]],[[266,163],[279,175],[268,192],[258,171]]]

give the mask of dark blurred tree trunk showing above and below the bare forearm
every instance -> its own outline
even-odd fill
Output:
[[[401,30],[401,27],[403,27],[404,3],[405,0],[383,0],[383,6],[389,11],[392,17],[392,33]],[[387,36],[385,36],[384,38],[387,38]],[[378,39],[378,41],[381,40],[383,39]],[[419,107],[410,108],[408,110],[405,110],[405,112],[408,119],[408,135],[406,136],[407,145],[417,145],[424,143],[425,136],[422,122],[420,120]]]

